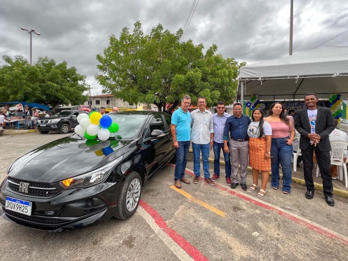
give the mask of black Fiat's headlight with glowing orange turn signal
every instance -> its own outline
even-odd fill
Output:
[[[116,160],[106,164],[105,166],[87,172],[85,174],[64,179],[59,182],[65,189],[77,188],[77,187],[90,187],[99,183],[102,183],[106,177],[108,177],[110,170],[112,170],[116,165],[123,159],[123,156],[117,158]]]

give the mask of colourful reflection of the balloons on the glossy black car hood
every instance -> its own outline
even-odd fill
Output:
[[[112,148],[118,146],[119,141],[97,141],[88,140],[86,143],[80,143],[77,147],[79,149],[87,149],[86,153],[94,152],[97,156],[107,156],[113,152]]]

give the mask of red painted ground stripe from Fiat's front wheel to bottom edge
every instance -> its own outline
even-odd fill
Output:
[[[196,261],[208,261],[201,252],[199,252],[194,246],[186,241],[185,238],[180,236],[174,229],[168,228],[164,219],[150,207],[148,203],[143,200],[140,200],[139,205],[150,214],[150,216],[155,220],[156,224],[169,236],[171,237],[176,244],[178,244],[186,253],[188,253],[191,258]]]

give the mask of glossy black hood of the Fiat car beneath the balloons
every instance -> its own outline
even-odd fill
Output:
[[[104,166],[135,148],[134,140],[100,142],[73,136],[22,155],[10,166],[8,175],[27,181],[54,183]]]

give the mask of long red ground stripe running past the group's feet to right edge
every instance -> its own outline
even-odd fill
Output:
[[[168,164],[168,166],[170,166],[170,167],[172,167],[172,168],[175,168],[175,166],[173,166],[173,165],[169,165],[169,164]],[[195,176],[195,174],[194,174],[193,172],[191,172],[191,171],[185,170],[185,172],[187,172],[187,173],[190,174],[191,176]],[[200,177],[200,179],[203,179],[203,178]],[[264,208],[264,209],[268,209],[268,210],[270,210],[270,211],[272,211],[272,212],[275,212],[275,213],[279,214],[280,216],[283,216],[283,217],[285,217],[285,218],[287,218],[287,219],[290,219],[290,220],[292,220],[292,221],[294,221],[294,222],[296,222],[296,223],[298,223],[298,224],[300,224],[300,225],[303,225],[303,226],[305,226],[305,227],[307,227],[307,228],[309,228],[309,229],[311,229],[311,230],[313,230],[313,231],[316,231],[317,233],[322,234],[322,235],[324,235],[324,236],[326,236],[326,237],[328,237],[328,238],[339,239],[340,241],[342,241],[343,243],[345,243],[345,244],[348,245],[348,241],[347,241],[346,239],[340,238],[340,237],[338,237],[338,236],[336,236],[336,235],[334,235],[334,234],[332,234],[332,233],[330,233],[330,232],[328,232],[328,231],[325,231],[324,229],[319,228],[319,227],[317,227],[317,226],[315,226],[315,225],[313,225],[313,224],[310,224],[310,223],[308,223],[308,222],[306,222],[306,221],[304,221],[304,220],[302,220],[302,219],[296,218],[296,217],[294,217],[294,216],[292,216],[292,215],[290,215],[290,214],[288,214],[288,213],[285,213],[285,212],[283,212],[283,211],[281,211],[281,210],[279,210],[279,209],[276,209],[276,208],[271,207],[271,206],[269,206],[269,205],[263,204],[262,202],[253,200],[253,199],[251,199],[250,197],[247,197],[247,196],[245,196],[245,195],[239,194],[238,192],[229,190],[228,188],[222,187],[222,186],[220,186],[220,185],[218,185],[218,184],[216,184],[215,187],[216,187],[216,188],[219,188],[220,190],[226,191],[227,193],[230,193],[230,194],[232,194],[232,195],[235,195],[235,196],[239,197],[240,199],[243,199],[243,200],[245,200],[245,201],[248,201],[248,202],[250,202],[250,203],[253,203],[253,204],[255,204],[255,205],[258,205],[259,207],[262,207],[262,208]]]

